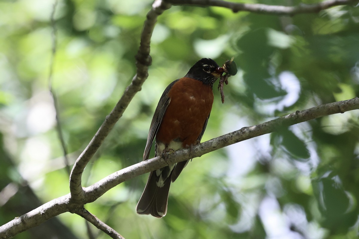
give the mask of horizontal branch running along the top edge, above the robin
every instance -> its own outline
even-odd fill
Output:
[[[173,5],[195,5],[195,6],[219,6],[238,11],[249,11],[252,13],[273,14],[273,15],[295,15],[302,13],[318,13],[321,10],[333,6],[349,5],[358,0],[329,0],[318,4],[300,4],[298,6],[276,6],[266,4],[232,3],[221,0],[166,0]]]

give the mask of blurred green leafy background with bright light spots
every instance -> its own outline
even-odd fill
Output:
[[[251,1],[275,5],[305,1]],[[0,225],[69,193],[49,92],[53,1],[0,1]],[[59,0],[52,87],[72,164],[135,74],[151,0]],[[165,87],[200,58],[234,56],[202,141],[359,92],[359,8],[293,17],[172,6],[151,39],[140,92],[85,169],[89,186],[141,161]],[[125,238],[357,238],[359,111],[326,116],[196,158],[163,219],[137,215],[148,175],[85,207]],[[153,155],[153,154],[152,154]],[[89,232],[90,231],[90,232]],[[15,238],[108,238],[71,213]]]

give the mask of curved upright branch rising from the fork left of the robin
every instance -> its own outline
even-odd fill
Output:
[[[148,77],[148,67],[151,64],[151,57],[149,55],[151,35],[157,21],[157,17],[167,8],[169,8],[169,4],[164,3],[162,0],[156,0],[153,3],[152,9],[146,16],[147,18],[141,34],[140,48],[136,55],[137,73],[133,77],[131,84],[126,88],[121,99],[117,102],[111,113],[106,116],[106,119],[102,123],[101,127],[98,129],[90,143],[74,164],[70,175],[70,192],[71,200],[74,200],[75,202],[84,202],[84,191],[81,187],[81,176],[87,163],[101,146],[103,140],[107,137],[108,133],[112,130],[118,119],[121,118],[123,112],[137,91],[141,90],[142,84]]]

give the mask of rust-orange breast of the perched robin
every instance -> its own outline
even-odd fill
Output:
[[[156,142],[180,140],[195,144],[213,104],[213,91],[202,82],[183,77],[168,92],[171,98],[156,135]]]

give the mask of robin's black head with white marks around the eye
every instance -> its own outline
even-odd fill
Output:
[[[213,83],[221,76],[216,72],[218,64],[210,58],[202,58],[191,67],[185,77],[202,81],[205,85],[213,86]]]

